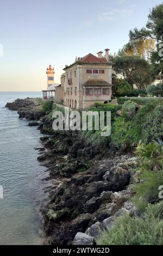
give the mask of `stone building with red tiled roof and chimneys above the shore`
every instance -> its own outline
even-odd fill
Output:
[[[89,53],[83,58],[65,66],[65,77],[61,80],[64,88],[64,105],[76,109],[86,109],[95,102],[106,103],[111,99],[112,63],[109,49],[98,52],[98,56]]]

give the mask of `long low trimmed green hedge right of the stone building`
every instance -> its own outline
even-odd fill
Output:
[[[126,101],[134,101],[139,105],[145,105],[147,103],[163,103],[162,99],[156,99],[153,97],[119,97],[117,99],[118,104],[123,104]]]

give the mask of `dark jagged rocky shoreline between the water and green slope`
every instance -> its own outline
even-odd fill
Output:
[[[136,214],[132,169],[139,161],[127,145],[116,151],[109,144],[97,147],[77,131],[53,131],[52,119],[32,99],[16,100],[6,107],[20,118],[39,120],[42,148],[37,160],[48,168],[56,186],[49,187],[49,203],[42,209],[46,245],[94,245],[125,212]]]

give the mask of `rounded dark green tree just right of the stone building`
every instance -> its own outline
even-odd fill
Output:
[[[114,72],[124,78],[131,86],[143,89],[154,78],[150,75],[151,65],[138,56],[122,55],[114,58]]]

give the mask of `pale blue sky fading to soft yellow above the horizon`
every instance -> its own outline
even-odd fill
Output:
[[[40,91],[47,88],[49,64],[59,83],[76,56],[105,48],[114,54],[161,2],[0,0],[0,91]]]

